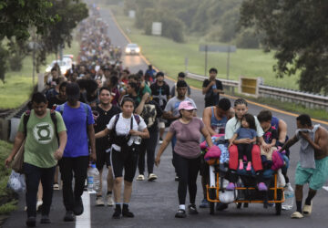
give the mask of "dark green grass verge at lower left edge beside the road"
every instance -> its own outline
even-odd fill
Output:
[[[16,200],[14,198],[14,192],[6,188],[6,184],[11,170],[5,168],[5,159],[11,152],[13,145],[0,140],[0,214],[12,212],[16,208]]]

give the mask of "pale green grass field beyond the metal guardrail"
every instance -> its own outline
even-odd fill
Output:
[[[186,57],[188,57],[188,71],[204,75],[205,54],[199,51],[199,46],[205,42],[201,38],[186,37],[186,43],[179,44],[162,36],[146,36],[143,30],[133,26],[134,19],[123,15],[122,7],[118,5],[102,7],[112,9],[119,26],[131,41],[141,47],[142,54],[151,60],[152,65],[165,69],[169,77],[177,78],[179,71],[185,71]],[[222,44],[212,43],[212,45]],[[208,70],[210,67],[218,68],[218,78],[227,78],[227,56],[227,53],[209,52],[208,54]],[[238,48],[235,53],[231,53],[229,79],[238,80],[240,76],[261,77],[264,84],[268,86],[298,89],[299,76],[276,78],[272,70],[275,63],[273,53],[264,53],[261,49]]]

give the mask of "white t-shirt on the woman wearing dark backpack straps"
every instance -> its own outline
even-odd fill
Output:
[[[118,123],[116,125],[116,133],[117,135],[128,135],[129,130],[131,129],[131,118],[124,118],[122,116],[122,113],[119,113],[119,118],[118,118]],[[138,130],[142,131],[147,129],[147,125],[140,116],[140,122],[139,124],[137,123],[136,119],[133,118],[133,128],[132,130]],[[116,115],[112,117],[112,119],[109,120],[109,123],[107,125],[108,130],[112,130],[114,128],[114,122],[116,119]],[[131,136],[131,138],[128,140],[128,146],[131,146],[133,141],[138,139],[138,136]],[[113,144],[114,150],[120,151],[120,146],[117,144]]]

